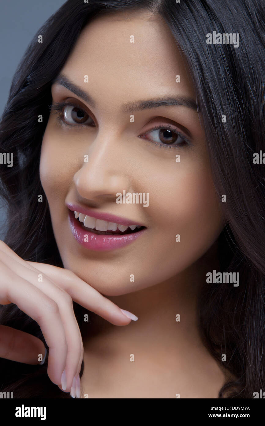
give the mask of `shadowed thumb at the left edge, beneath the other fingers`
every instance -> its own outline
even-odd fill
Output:
[[[0,325],[0,358],[34,365],[43,361],[45,352],[43,342],[37,337]]]

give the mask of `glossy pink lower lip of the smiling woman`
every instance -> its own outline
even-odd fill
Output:
[[[74,238],[83,247],[96,251],[108,251],[125,247],[139,238],[146,230],[145,228],[138,232],[125,235],[95,234],[94,232],[85,230],[81,226],[81,222],[74,217],[74,212],[71,210],[69,211],[69,222]]]

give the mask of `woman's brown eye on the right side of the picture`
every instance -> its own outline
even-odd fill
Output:
[[[149,135],[149,137],[146,138],[146,135]],[[171,124],[168,124],[166,126],[159,125],[154,129],[150,130],[148,133],[142,135],[142,137],[145,139],[149,139],[150,135],[152,135],[153,138],[153,140],[151,141],[157,145],[160,145],[163,148],[171,148],[172,146],[176,147],[188,143],[187,138],[185,138],[185,136],[182,135]]]

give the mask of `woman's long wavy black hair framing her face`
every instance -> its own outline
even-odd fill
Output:
[[[28,46],[0,124],[0,152],[14,155],[13,167],[0,168],[0,195],[8,207],[5,242],[25,260],[63,267],[39,176],[51,81],[80,31],[94,17],[140,9],[161,15],[188,61],[214,184],[220,200],[226,195],[221,204],[227,225],[217,241],[221,271],[240,274],[238,287],[205,283],[198,301],[202,339],[219,365],[236,377],[220,389],[220,398],[252,398],[254,391],[265,390],[264,165],[253,163],[253,153],[264,148],[265,135],[262,3],[68,0]],[[239,47],[208,45],[206,34],[213,31],[239,33]],[[38,35],[43,36],[43,43],[38,43]],[[39,194],[43,194],[43,203],[38,202]],[[82,333],[84,308],[74,303],[74,310]],[[1,307],[0,324],[26,331],[45,343],[39,325],[13,303]],[[20,398],[70,398],[49,380],[47,360],[43,366],[31,366],[0,359],[0,390],[14,391],[14,397]]]

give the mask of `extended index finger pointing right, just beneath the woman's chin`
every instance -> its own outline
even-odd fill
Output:
[[[27,262],[42,271],[44,274],[62,288],[71,298],[88,311],[94,312],[114,325],[128,325],[131,319],[126,317],[120,308],[91,287],[83,279],[68,269],[58,268],[47,263]]]

